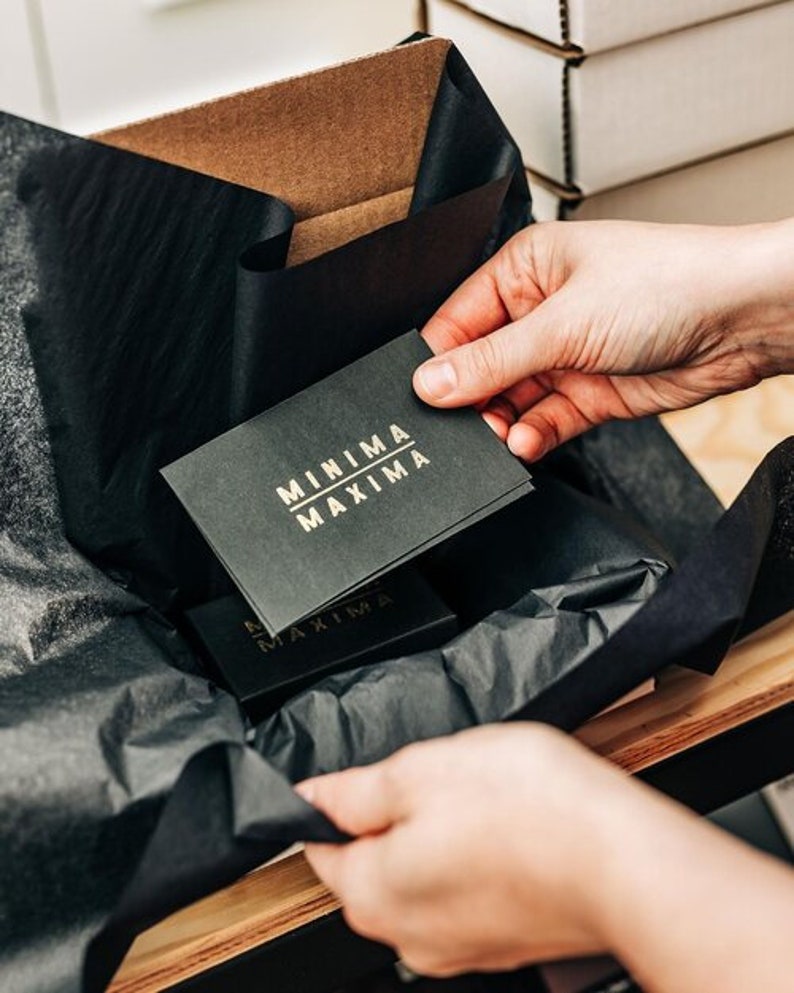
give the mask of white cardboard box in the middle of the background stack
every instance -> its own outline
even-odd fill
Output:
[[[429,0],[534,171],[590,194],[764,141],[794,122],[794,3],[576,55]]]

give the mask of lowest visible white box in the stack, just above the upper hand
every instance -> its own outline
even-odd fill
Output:
[[[794,216],[794,136],[581,197],[530,174],[539,221],[623,218],[751,224]]]

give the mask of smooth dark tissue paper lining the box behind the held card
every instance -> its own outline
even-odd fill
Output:
[[[20,190],[42,278],[26,324],[67,534],[155,606],[229,588],[157,471],[421,326],[526,223],[520,157],[458,57],[448,73],[410,217],[299,266],[284,268],[295,215],[272,196],[63,136],[30,157]],[[465,174],[446,140],[458,131],[476,136]]]

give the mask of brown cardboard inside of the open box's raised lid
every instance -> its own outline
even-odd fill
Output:
[[[403,45],[95,137],[285,200],[295,264],[405,216],[450,44]]]

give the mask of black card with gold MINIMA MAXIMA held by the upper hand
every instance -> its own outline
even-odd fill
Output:
[[[163,470],[271,633],[531,488],[474,410],[416,397],[429,355],[411,331]]]

